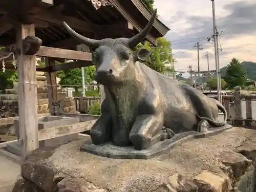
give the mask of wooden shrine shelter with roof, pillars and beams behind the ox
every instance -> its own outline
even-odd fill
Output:
[[[69,36],[63,22],[94,39],[129,38],[147,24],[151,14],[140,0],[0,1],[0,46],[5,47],[0,51],[0,60],[12,54],[17,59],[22,159],[38,148],[36,71],[47,72],[47,84],[53,85],[48,86],[48,97],[50,112],[54,114],[55,72],[92,65],[91,53],[76,51],[80,42]],[[156,19],[145,40],[156,45],[156,39],[168,30]],[[35,65],[36,56],[46,58],[46,67]],[[55,66],[55,60],[66,59],[74,61]],[[14,70],[10,63],[5,68]]]

